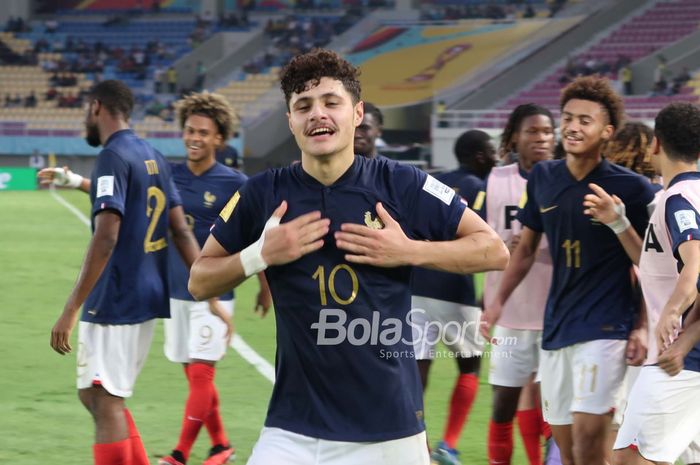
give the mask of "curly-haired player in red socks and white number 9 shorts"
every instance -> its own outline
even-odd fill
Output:
[[[226,143],[235,128],[235,115],[226,98],[208,92],[193,93],[177,103],[187,162],[172,166],[175,186],[197,242],[204,245],[209,229],[228,199],[246,176],[216,161],[216,149]],[[226,353],[233,293],[210,302],[197,302],[187,291],[189,267],[171,253],[170,319],[165,325],[165,355],[184,364],[189,383],[180,439],[161,465],[184,465],[204,425],[212,447],[204,465],[226,463],[233,455],[219,409],[214,384],[216,362]],[[212,307],[215,312],[212,312]],[[269,304],[268,304],[269,306]],[[223,316],[222,319],[220,316]]]

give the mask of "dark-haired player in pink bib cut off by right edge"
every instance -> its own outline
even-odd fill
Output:
[[[686,463],[700,462],[700,344],[692,334],[674,342],[698,295],[700,110],[687,103],[666,106],[654,134],[652,157],[666,190],[649,221],[639,264],[649,352],[617,435],[616,464],[672,464],[689,446]],[[671,353],[664,358],[665,350]],[[683,369],[670,369],[669,376],[662,367],[683,356]]]

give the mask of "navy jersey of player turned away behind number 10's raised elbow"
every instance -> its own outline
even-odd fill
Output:
[[[465,168],[442,173],[436,178],[450,186],[454,191],[474,208],[479,192],[484,189],[484,181],[470,174]],[[443,271],[416,268],[411,280],[413,295],[444,300],[462,305],[476,306],[474,291],[474,276]]]

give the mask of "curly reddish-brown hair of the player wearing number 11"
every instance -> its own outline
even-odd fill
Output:
[[[615,130],[622,125],[625,105],[607,79],[599,76],[584,76],[574,79],[561,91],[560,109],[564,109],[566,103],[573,99],[598,103],[605,108],[608,113],[608,121]]]

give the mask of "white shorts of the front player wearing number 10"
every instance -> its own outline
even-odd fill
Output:
[[[381,442],[328,441],[263,428],[248,465],[428,465],[425,432]]]

